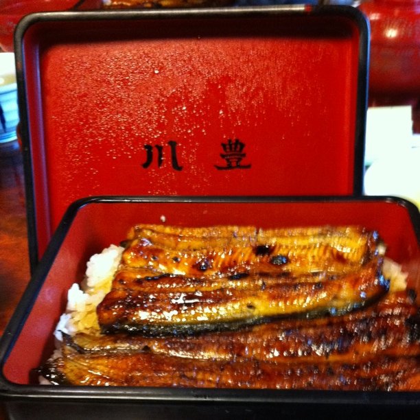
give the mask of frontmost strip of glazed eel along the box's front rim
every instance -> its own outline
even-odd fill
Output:
[[[418,390],[418,358],[388,358],[360,364],[272,364],[256,360],[174,358],[154,353],[86,357],[79,353],[50,362],[41,371],[51,384],[82,386],[179,386],[316,390]]]

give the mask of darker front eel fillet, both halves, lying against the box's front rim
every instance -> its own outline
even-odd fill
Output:
[[[399,292],[338,317],[194,337],[65,336],[52,384],[419,390],[419,308]]]

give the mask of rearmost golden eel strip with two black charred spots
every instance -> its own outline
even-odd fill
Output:
[[[249,226],[136,226],[122,262],[187,277],[238,273],[331,275],[353,271],[383,252],[373,231],[357,227],[255,229]]]

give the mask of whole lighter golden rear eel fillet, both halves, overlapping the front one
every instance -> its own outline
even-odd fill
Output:
[[[105,333],[165,336],[341,314],[387,292],[382,253],[357,227],[139,225],[98,321]]]

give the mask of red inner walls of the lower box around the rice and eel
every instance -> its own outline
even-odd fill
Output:
[[[110,244],[124,240],[135,223],[178,226],[215,224],[253,225],[263,228],[288,226],[361,225],[377,230],[388,246],[388,256],[409,273],[410,287],[420,291],[420,251],[407,207],[397,200],[353,199],[323,201],[279,200],[262,202],[150,202],[145,200],[88,200],[77,207],[64,239],[57,235],[50,244],[58,249],[51,266],[41,261],[33,281],[40,282],[34,306],[3,366],[6,380],[16,384],[36,383],[32,370],[54,349],[53,331],[64,312],[67,290],[81,281],[86,261]],[[69,223],[71,223],[69,225]],[[416,221],[418,223],[418,220]],[[418,226],[417,226],[418,229]],[[58,233],[60,233],[58,231]],[[43,279],[45,278],[45,281]],[[46,316],[47,314],[47,316]],[[31,349],[31,351],[27,351]]]

